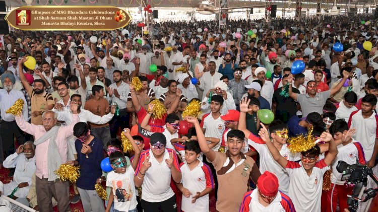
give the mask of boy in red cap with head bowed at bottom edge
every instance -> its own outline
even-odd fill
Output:
[[[278,190],[279,183],[275,174],[265,171],[257,180],[257,189],[244,194],[239,212],[249,211],[286,211],[295,212],[290,197]]]

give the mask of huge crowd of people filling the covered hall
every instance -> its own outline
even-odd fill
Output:
[[[86,212],[209,211],[212,199],[220,212],[347,211],[353,187],[338,162],[378,173],[378,23],[370,15],[12,31],[0,49],[0,162],[13,180],[0,182],[0,195],[41,212],[79,201]],[[6,113],[18,99],[22,112]],[[183,117],[193,101],[202,115]],[[300,135],[321,142],[291,152],[287,141]],[[76,182],[59,179],[61,164],[80,166]]]

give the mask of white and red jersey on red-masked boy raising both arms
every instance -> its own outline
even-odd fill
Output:
[[[323,175],[330,166],[323,160],[318,161],[308,176],[302,162],[287,161],[286,171],[289,173],[289,196],[297,211],[321,211]]]

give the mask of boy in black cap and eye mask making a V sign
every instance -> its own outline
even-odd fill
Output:
[[[155,132],[150,136],[151,149],[142,152],[134,182],[142,186],[144,211],[177,211],[176,196],[170,187],[171,177],[175,183],[181,181],[181,171],[174,150],[166,149],[164,134]],[[165,162],[165,164],[164,164]]]

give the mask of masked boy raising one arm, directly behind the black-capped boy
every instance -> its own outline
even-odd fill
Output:
[[[180,118],[175,114],[171,113],[168,114],[165,117],[165,125],[163,126],[151,126],[150,123],[150,118],[152,116],[152,111],[154,111],[154,105],[149,104],[148,105],[149,111],[146,116],[143,118],[141,122],[142,128],[144,128],[147,131],[150,132],[161,132],[164,134],[166,140],[167,140],[167,148],[174,150],[174,147],[171,143],[171,139],[173,138],[178,138],[178,125],[180,122]]]

